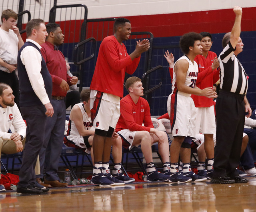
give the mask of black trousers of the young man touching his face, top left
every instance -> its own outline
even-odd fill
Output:
[[[12,94],[15,96],[14,102],[19,107],[20,92],[19,92],[19,81],[15,74],[15,71],[12,73],[7,73],[0,70],[0,82],[8,84],[12,88]]]

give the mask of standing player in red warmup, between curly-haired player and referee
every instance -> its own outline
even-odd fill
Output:
[[[201,46],[203,47],[202,55],[196,55],[194,61],[198,64],[198,77],[196,86],[200,89],[212,87],[218,81],[219,61],[216,53],[210,51],[212,47],[212,35],[208,32],[201,32]],[[196,114],[196,135],[204,134],[204,149],[207,156],[207,171],[205,161],[198,163],[198,175],[212,178],[213,161],[214,161],[214,142],[213,134],[216,133],[214,105],[211,98],[206,96],[191,95],[198,112]]]

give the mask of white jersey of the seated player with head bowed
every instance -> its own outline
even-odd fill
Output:
[[[84,104],[83,103],[78,103],[75,104],[75,106],[78,106],[82,112],[83,115],[83,122],[84,122],[84,129],[86,130],[94,130],[93,126],[92,126],[92,120],[91,117],[88,117],[87,113],[84,110]],[[70,139],[71,137],[77,136],[79,135],[78,130],[76,129],[76,125],[74,123],[74,121],[69,119],[69,123],[68,123],[68,130],[67,130],[67,137],[68,139]]]

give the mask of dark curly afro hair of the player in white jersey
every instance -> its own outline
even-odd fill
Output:
[[[202,39],[202,35],[192,31],[182,35],[180,38],[180,48],[185,54],[189,53],[189,47],[194,47],[195,41],[200,41]]]

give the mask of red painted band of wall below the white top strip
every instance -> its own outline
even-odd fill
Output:
[[[118,18],[118,17],[116,17]],[[235,14],[232,9],[209,10],[199,12],[184,12],[174,14],[157,14],[147,16],[129,16],[132,31],[150,31],[154,37],[180,36],[189,31],[208,31],[210,33],[225,33],[231,31]],[[57,22],[58,23],[58,22]],[[65,24],[66,23],[66,24]],[[81,20],[61,22],[65,43],[79,42]],[[102,40],[102,37],[112,35],[113,26],[100,23],[99,26],[87,24],[87,36]],[[256,7],[243,8],[242,31],[256,31]],[[103,33],[102,33],[103,30]],[[100,35],[100,36],[99,36]],[[25,38],[25,36],[23,37]]]

